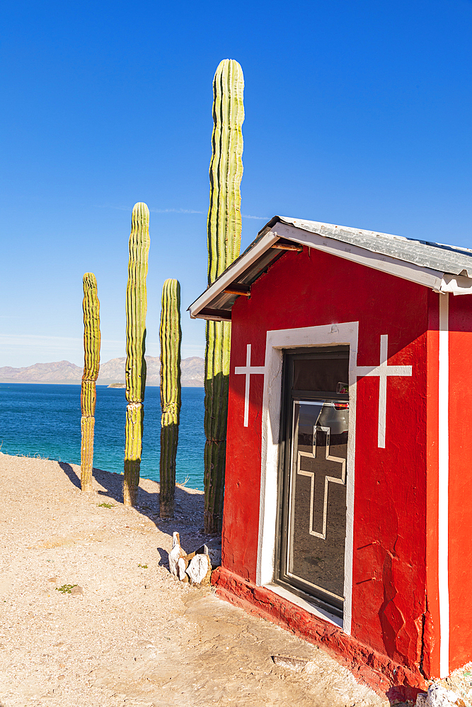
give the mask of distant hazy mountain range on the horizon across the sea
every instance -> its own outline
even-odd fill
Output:
[[[125,356],[112,358],[100,366],[98,385],[125,382]],[[146,385],[159,385],[161,360],[156,356],[146,356]],[[203,387],[205,361],[200,356],[183,358],[180,363],[182,370],[182,385],[184,387]],[[70,361],[54,361],[54,363],[35,363],[25,368],[0,368],[2,383],[80,383],[84,369]]]

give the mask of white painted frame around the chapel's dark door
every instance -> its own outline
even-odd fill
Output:
[[[277,485],[279,469],[280,409],[282,404],[282,351],[307,346],[349,344],[349,436],[347,440],[346,545],[343,630],[351,632],[352,554],[354,534],[354,472],[357,387],[357,337],[359,322],[278,329],[267,332],[260,469],[259,539],[256,584],[269,585],[275,572]],[[290,594],[290,592],[288,592]],[[290,597],[295,595],[290,594]],[[292,598],[290,601],[294,601]],[[318,609],[317,609],[318,610]]]

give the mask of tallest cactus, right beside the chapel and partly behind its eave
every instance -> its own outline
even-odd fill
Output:
[[[239,255],[243,176],[243,70],[220,62],[213,79],[212,160],[209,166],[208,284]],[[231,324],[207,322],[205,353],[205,531],[221,530],[226,460]]]

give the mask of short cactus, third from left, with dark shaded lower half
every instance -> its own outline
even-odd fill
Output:
[[[166,280],[162,288],[161,328],[161,518],[172,518],[180,417],[180,284]]]

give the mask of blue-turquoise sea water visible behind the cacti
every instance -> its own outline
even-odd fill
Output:
[[[80,385],[0,383],[0,451],[80,464]],[[182,389],[175,480],[203,490],[203,388]],[[93,466],[123,471],[124,388],[97,385]],[[141,476],[159,481],[161,453],[159,387],[146,388]]]

